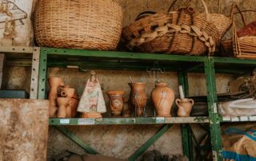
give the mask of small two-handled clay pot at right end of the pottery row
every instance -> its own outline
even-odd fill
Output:
[[[192,106],[194,105],[194,100],[183,98],[183,99],[177,99],[175,102],[178,106],[177,116],[189,117],[190,112],[192,110]]]

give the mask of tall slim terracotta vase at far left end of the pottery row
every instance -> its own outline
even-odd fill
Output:
[[[48,100],[50,103],[49,116],[56,117],[57,108],[57,97],[58,97],[58,88],[64,86],[62,78],[59,77],[49,77],[48,83],[50,86],[50,92],[48,95]]]

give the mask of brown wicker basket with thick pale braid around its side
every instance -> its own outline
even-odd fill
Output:
[[[202,55],[208,49],[214,53],[218,29],[206,21],[206,15],[194,14],[189,2],[179,10],[169,9],[169,14],[154,14],[132,23],[122,30],[122,38],[130,49],[142,52]]]

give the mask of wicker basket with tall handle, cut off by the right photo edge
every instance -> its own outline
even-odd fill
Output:
[[[233,46],[234,56],[241,58],[256,58],[256,36],[242,36],[238,37],[236,25],[234,22],[234,7],[238,10],[245,24],[242,11],[239,10],[237,5],[232,6],[232,19],[233,19]]]

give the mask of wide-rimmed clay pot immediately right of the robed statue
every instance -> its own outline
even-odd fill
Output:
[[[124,91],[109,91],[106,94],[110,97],[110,111],[113,116],[121,116]]]

